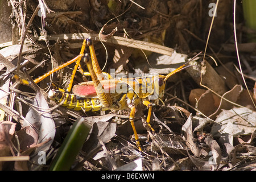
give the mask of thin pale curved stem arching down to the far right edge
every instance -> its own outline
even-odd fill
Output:
[[[245,77],[243,76],[243,71],[242,71],[242,67],[241,67],[241,61],[240,61],[240,56],[239,56],[239,52],[238,52],[238,44],[237,44],[237,31],[236,31],[236,0],[234,0],[234,40],[235,40],[235,45],[236,45],[236,52],[237,52],[237,59],[238,59],[238,64],[239,64],[239,68],[240,68],[240,72],[241,72],[241,76],[243,78],[243,83],[245,84],[246,90],[251,98],[251,101],[253,102],[254,107],[256,108],[256,105],[253,101],[253,97],[251,97],[251,94],[249,92],[249,89],[247,87],[246,81],[245,81]]]

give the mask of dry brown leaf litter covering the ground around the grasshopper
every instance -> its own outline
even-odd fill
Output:
[[[14,10],[13,23],[24,32],[22,22],[25,16],[17,14],[16,8],[26,3],[26,13],[31,17],[38,5],[26,1],[13,6],[16,1],[10,2]],[[47,72],[52,64],[59,65],[62,64],[59,62],[75,57],[81,47],[81,40],[59,39],[61,35],[81,32],[86,35],[97,35],[100,32],[99,28],[114,18],[109,10],[115,15],[125,13],[118,20],[114,19],[108,26],[102,28],[102,35],[111,35],[111,41],[104,40],[103,47],[96,39],[94,46],[101,68],[106,66],[104,69],[108,71],[115,68],[115,74],[171,72],[188,57],[193,57],[196,52],[204,49],[204,36],[207,36],[212,18],[203,18],[203,14],[208,14],[208,4],[199,1],[183,1],[180,4],[176,1],[141,1],[140,6],[144,10],[133,3],[119,1],[113,4],[92,3],[90,6],[81,6],[80,1],[46,2],[42,1],[47,10],[46,16],[42,19],[44,27],[37,27],[42,20],[36,15],[33,20],[35,23],[27,32],[27,35],[31,36],[27,39],[26,51],[23,48],[22,53],[22,58],[29,61],[26,68],[34,70],[30,73],[32,77]],[[241,72],[238,72],[234,65],[234,48],[230,46],[233,45],[230,41],[230,38],[233,38],[233,27],[225,30],[222,28],[224,22],[229,22],[229,18],[232,17],[231,4],[232,1],[224,1],[218,6],[218,15],[210,35],[212,39],[209,40],[210,51],[207,52],[210,56],[204,61],[203,56],[198,56],[197,60],[191,62],[191,67],[172,77],[166,85],[164,105],[159,101],[156,103],[159,105],[153,106],[150,122],[156,133],[151,133],[145,124],[147,109],[138,108],[135,126],[141,140],[142,153],[138,152],[132,137],[129,111],[85,113],[56,107],[47,112],[56,104],[46,99],[46,94],[42,93],[42,90],[32,91],[22,86],[18,88],[22,90],[20,92],[16,92],[18,89],[12,87],[6,90],[2,85],[8,82],[1,77],[1,92],[5,90],[5,96],[10,96],[10,90],[16,92],[16,98],[19,100],[16,100],[17,104],[14,107],[9,107],[6,101],[1,101],[0,106],[5,117],[1,118],[3,121],[0,123],[0,156],[30,156],[29,162],[0,162],[1,169],[47,169],[47,166],[42,164],[35,165],[40,159],[39,151],[46,152],[47,164],[50,164],[72,123],[82,116],[86,123],[92,126],[92,130],[72,170],[255,170],[256,109],[243,85]],[[90,21],[86,20],[86,17],[90,17]],[[38,29],[42,31],[39,33],[36,31]],[[115,32],[112,35],[110,32],[113,30]],[[41,34],[44,36],[43,42],[42,37],[39,38]],[[51,36],[51,40],[47,40],[46,34]],[[115,37],[123,42],[134,39],[152,43],[155,49],[161,49],[164,45],[171,48],[168,50],[172,50],[172,56],[150,51],[143,53],[143,44],[138,44],[139,42],[134,42],[133,47],[117,46],[113,43]],[[229,40],[228,44],[226,40]],[[246,45],[241,44],[240,47],[243,46]],[[250,56],[253,55],[250,50],[246,49],[243,56],[246,57],[244,60],[252,64],[255,59],[250,61]],[[18,52],[16,55],[10,55],[4,50],[1,53],[7,55],[6,59],[15,66],[14,60]],[[216,66],[212,57],[220,65]],[[105,60],[108,61],[105,63]],[[2,75],[6,72],[5,67],[11,68],[6,62],[1,63]],[[36,66],[37,63],[41,64]],[[65,68],[58,76],[53,77],[53,82],[61,85],[60,78],[64,75],[69,77],[68,73],[65,73],[68,69]],[[251,69],[253,71],[255,66],[252,65]],[[253,102],[256,102],[255,77],[249,73],[246,81],[250,84],[249,93],[254,99]],[[82,80],[76,76],[75,82]],[[6,118],[12,119],[7,121]]]

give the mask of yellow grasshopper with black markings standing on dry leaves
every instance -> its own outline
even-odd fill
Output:
[[[90,57],[84,50],[86,45],[89,47]],[[83,59],[88,67],[89,72],[83,72],[80,65],[80,60]],[[98,110],[123,110],[129,109],[130,112],[130,123],[134,131],[137,147],[139,151],[142,151],[141,144],[139,143],[138,134],[134,126],[134,117],[136,107],[142,102],[148,108],[147,125],[154,132],[154,129],[150,126],[152,104],[151,100],[158,100],[162,98],[164,94],[164,88],[166,81],[169,77],[175,73],[184,69],[187,65],[181,65],[181,67],[175,69],[167,76],[154,75],[144,76],[135,78],[112,78],[108,73],[101,71],[98,65],[97,57],[94,51],[92,40],[85,39],[82,43],[80,55],[74,59],[60,65],[59,67],[52,69],[52,71],[45,75],[36,78],[35,83],[42,81],[53,72],[58,71],[61,68],[67,67],[76,61],[75,68],[73,69],[71,81],[69,82],[67,90],[62,89],[51,89],[49,90],[48,97],[53,101],[63,103],[62,106],[68,107],[69,109],[85,111],[98,111]],[[73,78],[77,69],[80,70],[86,76],[90,76],[92,81],[81,82],[78,85],[73,84]]]

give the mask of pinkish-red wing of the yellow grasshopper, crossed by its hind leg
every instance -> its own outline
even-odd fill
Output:
[[[118,80],[102,80],[101,84],[104,86],[104,89],[107,93],[115,93],[115,85]],[[74,85],[72,89],[73,94],[79,97],[96,97],[96,89],[94,88],[92,81],[81,82],[78,85]]]

